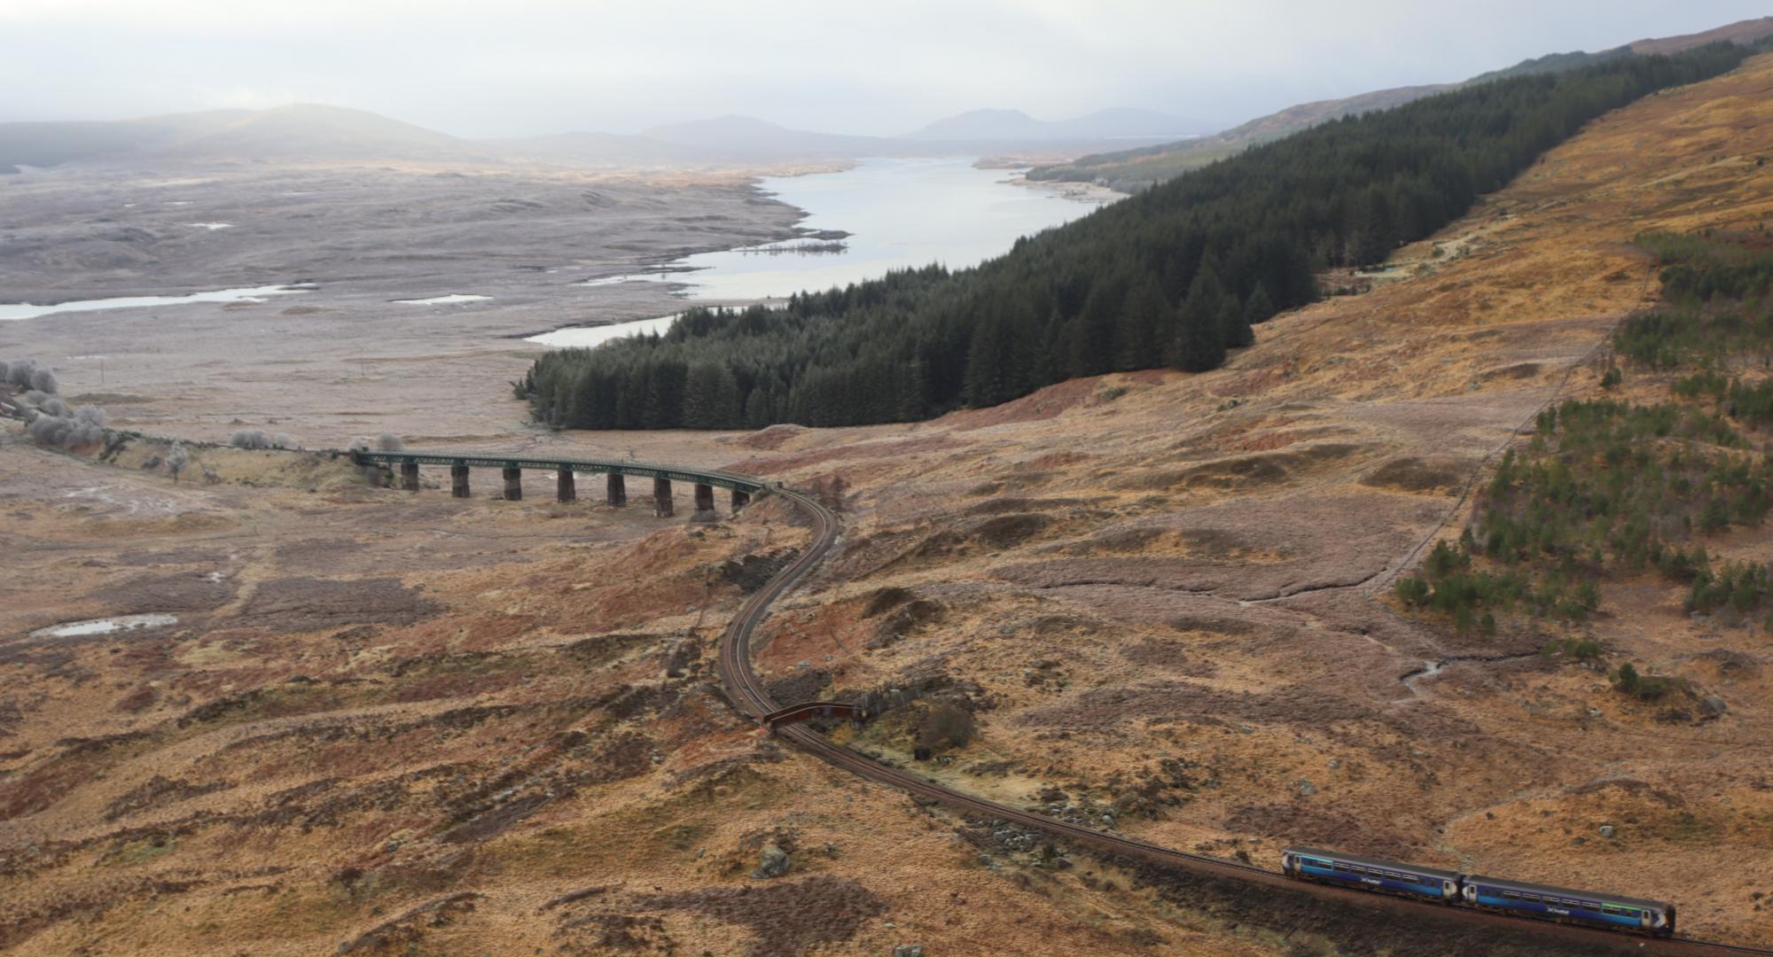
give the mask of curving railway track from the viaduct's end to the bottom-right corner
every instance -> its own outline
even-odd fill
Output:
[[[761,720],[764,714],[782,707],[778,702],[769,698],[764,689],[762,679],[752,670],[750,659],[750,640],[764,619],[769,617],[769,606],[787,594],[794,585],[800,583],[830,551],[832,544],[837,541],[839,523],[837,516],[814,500],[808,494],[782,489],[778,494],[793,502],[814,521],[812,544],[807,546],[800,556],[794,558],[787,567],[775,574],[761,590],[752,594],[750,599],[739,606],[739,611],[727,624],[727,631],[720,638],[720,677],[725,681],[727,688],[732,691],[734,700],[741,709],[745,709],[752,718]],[[1184,868],[1195,874],[1229,877],[1236,881],[1245,881],[1252,884],[1264,884],[1275,888],[1287,888],[1294,891],[1305,891],[1319,895],[1324,899],[1335,899],[1349,904],[1367,906],[1367,907],[1394,907],[1399,916],[1408,918],[1411,913],[1422,913],[1424,909],[1433,909],[1434,914],[1452,916],[1456,920],[1489,923],[1495,927],[1521,927],[1523,923],[1543,923],[1543,930],[1555,936],[1567,936],[1571,941],[1582,941],[1583,945],[1594,946],[1617,946],[1621,952],[1633,953],[1757,953],[1773,955],[1773,948],[1759,948],[1746,945],[1730,945],[1718,941],[1700,941],[1691,938],[1668,938],[1668,939],[1651,939],[1651,938],[1629,938],[1610,930],[1597,930],[1589,927],[1574,927],[1553,922],[1527,922],[1518,916],[1493,914],[1484,911],[1466,911],[1459,907],[1441,907],[1434,904],[1420,904],[1404,899],[1383,897],[1374,893],[1363,893],[1346,888],[1335,888],[1326,884],[1312,884],[1294,881],[1278,870],[1268,870],[1255,865],[1246,865],[1241,861],[1230,861],[1225,858],[1211,858],[1206,854],[1190,854],[1186,851],[1175,851],[1172,847],[1161,847],[1158,844],[1112,835],[1106,831],[1097,831],[1094,828],[1083,828],[1078,824],[1067,824],[1064,821],[1053,821],[1043,813],[1027,812],[1021,808],[1012,808],[1009,805],[1000,805],[996,801],[988,801],[984,798],[975,798],[959,790],[952,790],[940,785],[929,778],[922,778],[911,771],[899,767],[888,767],[879,764],[858,751],[835,744],[823,734],[803,727],[791,725],[777,730],[778,737],[785,737],[800,746],[803,751],[832,764],[842,767],[856,776],[867,778],[871,782],[885,783],[929,798],[949,808],[975,813],[986,819],[1005,821],[1030,831],[1039,831],[1050,836],[1062,838],[1069,844],[1089,847],[1110,856],[1131,858],[1136,861],[1145,861],[1160,867]]]

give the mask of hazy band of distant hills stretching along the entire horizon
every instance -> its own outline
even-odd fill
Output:
[[[1599,53],[1551,53],[1484,73],[1479,83],[1521,73],[1574,69],[1629,53],[1674,53],[1713,41],[1753,43],[1773,35],[1773,16],[1702,34],[1642,39]],[[1097,181],[1138,190],[1188,168],[1337,117],[1385,110],[1463,83],[1376,90],[1301,103],[1200,136],[1206,124],[1152,110],[1099,110],[1039,121],[1021,110],[972,110],[899,136],[849,136],[791,129],[754,117],[715,117],[656,126],[640,135],[557,133],[466,140],[395,119],[323,105],[271,110],[211,110],[133,121],[0,122],[0,172],[16,167],[108,163],[431,163],[504,165],[541,161],[582,168],[745,168],[791,160],[863,156],[1021,154],[1078,158],[1041,167],[1037,179]],[[1131,149],[1124,149],[1131,144]],[[1110,151],[1110,152],[1105,152]]]

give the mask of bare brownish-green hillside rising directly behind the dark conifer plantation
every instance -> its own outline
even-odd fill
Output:
[[[1488,83],[1493,80],[1507,80],[1535,73],[1564,73],[1578,67],[1605,64],[1633,53],[1681,53],[1684,50],[1693,50],[1718,41],[1750,44],[1768,35],[1773,35],[1773,16],[1743,19],[1739,23],[1730,23],[1700,34],[1642,39],[1597,53],[1550,53],[1521,60],[1511,67],[1482,73],[1459,83],[1395,87],[1344,99],[1301,103],[1266,117],[1257,117],[1241,126],[1234,126],[1232,129],[1215,133],[1213,136],[1082,156],[1071,163],[1039,167],[1032,170],[1028,177],[1073,183],[1105,183],[1122,191],[1135,191],[1163,183],[1183,172],[1200,168],[1215,160],[1223,160],[1250,145],[1275,140],[1321,122],[1347,115],[1360,115],[1369,110],[1390,110],[1392,106],[1402,106],[1404,103],[1424,96],[1454,90],[1472,83]]]

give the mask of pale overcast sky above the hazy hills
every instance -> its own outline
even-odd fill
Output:
[[[0,0],[0,121],[291,101],[463,136],[1014,106],[1223,128],[1762,16],[1753,0]],[[1179,131],[1181,133],[1181,131]]]

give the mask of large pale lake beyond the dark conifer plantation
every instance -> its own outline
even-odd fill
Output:
[[[686,300],[785,298],[830,289],[890,269],[941,262],[950,269],[1009,252],[1018,237],[1096,209],[1044,186],[1019,186],[1018,170],[980,170],[966,158],[865,160],[833,174],[766,177],[761,188],[808,213],[805,230],[847,232],[762,246],[697,253],[658,269],[587,280],[688,284]],[[596,346],[637,331],[663,331],[676,319],[557,330],[530,337],[544,346]]]

